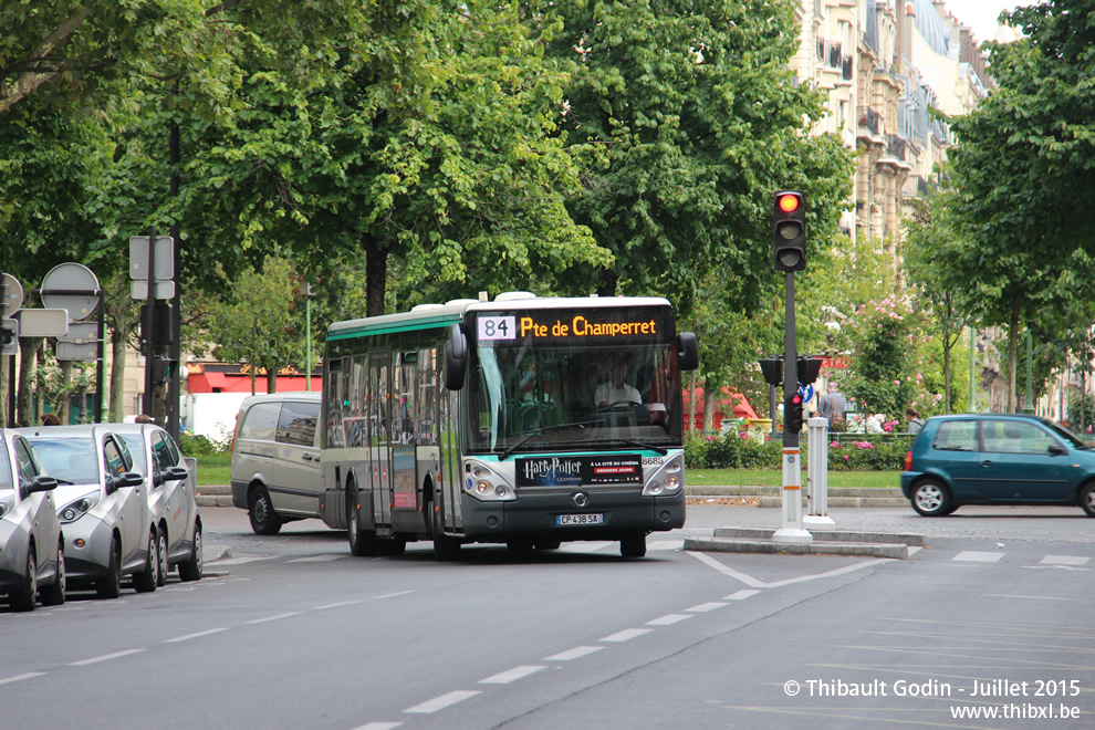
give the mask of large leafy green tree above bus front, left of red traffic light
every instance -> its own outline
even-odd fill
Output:
[[[562,20],[548,52],[571,72],[562,131],[584,182],[569,207],[614,257],[575,270],[574,288],[661,293],[687,311],[717,271],[748,312],[775,278],[775,190],[805,190],[812,242],[836,234],[852,152],[809,134],[822,96],[789,69],[792,3],[531,2],[526,17]]]

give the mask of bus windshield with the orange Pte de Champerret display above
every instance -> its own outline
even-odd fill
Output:
[[[465,409],[469,451],[679,447],[670,317],[667,307],[480,314]]]

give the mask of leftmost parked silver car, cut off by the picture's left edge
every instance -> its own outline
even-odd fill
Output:
[[[53,490],[28,440],[0,428],[0,594],[14,611],[64,603],[64,535]]]

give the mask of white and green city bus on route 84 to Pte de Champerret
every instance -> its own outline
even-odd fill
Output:
[[[336,322],[322,517],[354,555],[618,541],[642,557],[685,523],[680,372],[698,363],[659,298],[508,292]]]

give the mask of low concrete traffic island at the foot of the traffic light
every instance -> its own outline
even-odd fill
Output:
[[[825,530],[809,543],[776,542],[774,528],[717,528],[712,538],[686,538],[685,550],[781,555],[866,555],[907,560],[925,546],[922,534]]]

